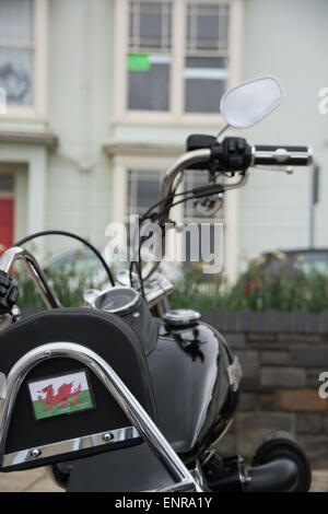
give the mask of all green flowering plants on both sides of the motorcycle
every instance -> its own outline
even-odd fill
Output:
[[[99,288],[98,283],[94,283],[94,274],[82,273],[75,265],[49,271],[47,278],[61,305],[66,307],[82,305],[83,292]],[[15,280],[20,290],[20,307],[44,306],[25,271],[20,269]],[[176,284],[169,296],[169,305],[171,308],[192,307],[200,312],[213,308],[265,312],[274,308],[319,313],[328,309],[328,270],[304,272],[286,265],[280,266],[279,272],[272,272],[262,266],[262,261],[253,260],[232,287],[224,273],[204,280],[200,268],[196,266],[187,270],[184,280]]]

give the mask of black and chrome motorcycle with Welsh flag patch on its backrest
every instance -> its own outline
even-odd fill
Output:
[[[33,234],[0,258],[0,471],[45,466],[67,491],[307,491],[308,459],[285,432],[268,434],[251,466],[215,447],[237,407],[242,369],[225,339],[189,309],[169,309],[169,280],[157,272],[173,207],[196,200],[215,212],[225,192],[244,186],[250,168],[291,172],[312,163],[307,147],[250,145],[225,137],[268,116],[284,92],[272,77],[250,80],[221,101],[219,136],[192,135],[165,175],[160,201],[139,229],[157,223],[160,259],[137,257],[115,278],[99,252],[62,231]],[[179,192],[184,174],[208,173],[206,186]],[[224,177],[224,180],[222,180]],[[108,287],[85,291],[85,305],[62,308],[27,241],[62,234],[101,260]],[[161,244],[160,244],[161,243]],[[47,309],[22,318],[13,265],[22,260]]]

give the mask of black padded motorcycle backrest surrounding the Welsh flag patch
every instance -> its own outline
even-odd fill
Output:
[[[56,308],[23,319],[0,334],[0,371],[8,375],[12,366],[26,352],[51,342],[78,343],[103,358],[152,417],[156,420],[155,400],[152,390],[145,352],[137,332],[119,316],[92,308]],[[132,423],[113,398],[104,384],[89,369],[90,390],[93,408],[81,412],[36,419],[31,401],[28,384],[72,372],[82,372],[85,365],[73,358],[57,358],[40,361],[21,384],[5,440],[5,454],[15,454],[26,448],[52,445],[130,427]],[[10,470],[30,469],[46,464],[72,458],[82,458],[95,453],[118,449],[121,446],[141,444],[141,437],[124,440],[117,444],[96,445],[37,460],[11,464]],[[59,457],[60,456],[60,457]],[[5,466],[0,463],[0,469]],[[5,470],[8,470],[5,468]]]

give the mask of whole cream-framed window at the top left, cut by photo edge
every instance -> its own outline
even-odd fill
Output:
[[[44,114],[47,0],[0,0],[0,87],[10,114]]]

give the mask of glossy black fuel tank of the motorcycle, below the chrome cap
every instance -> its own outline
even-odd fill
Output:
[[[227,367],[233,355],[209,325],[162,324],[148,355],[159,428],[185,462],[200,456],[223,433],[237,400]]]

